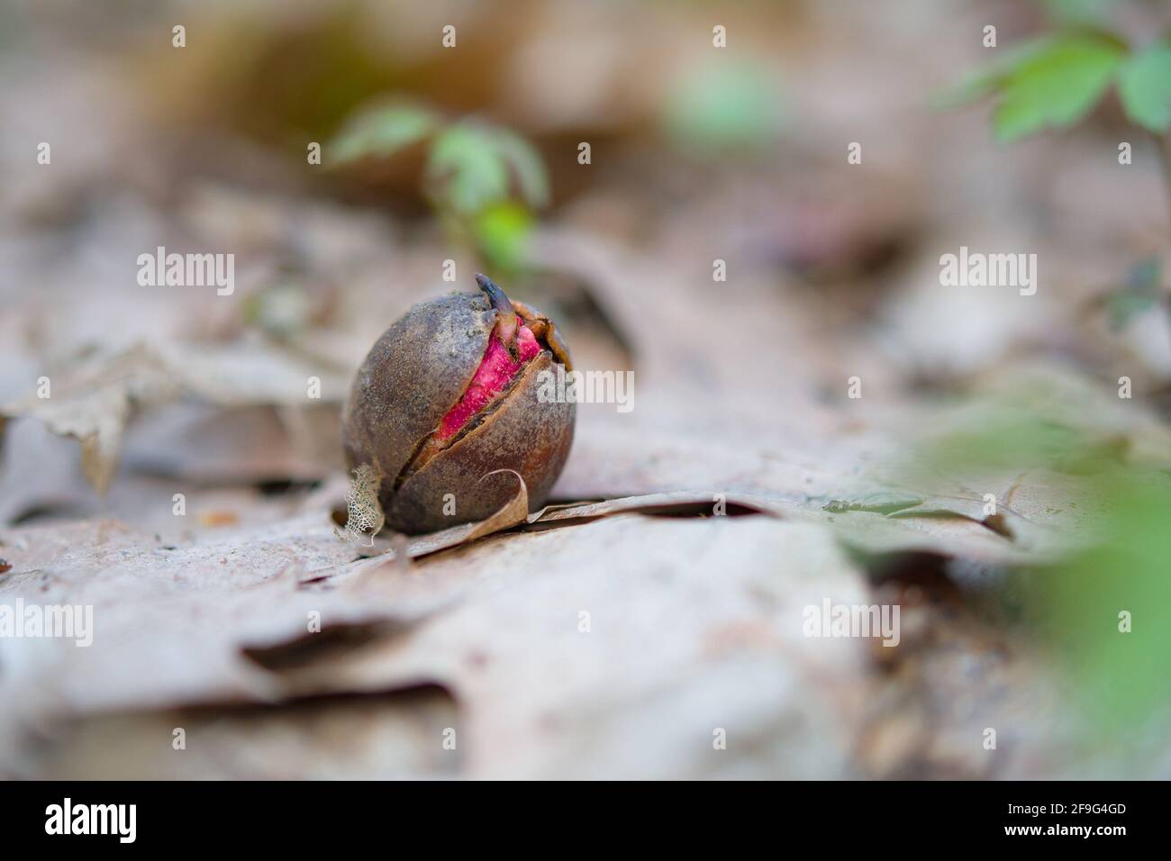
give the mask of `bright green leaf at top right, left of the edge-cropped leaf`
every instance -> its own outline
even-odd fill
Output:
[[[1112,40],[1070,35],[1027,55],[1000,87],[997,139],[1015,141],[1082,119],[1110,86],[1123,54]]]

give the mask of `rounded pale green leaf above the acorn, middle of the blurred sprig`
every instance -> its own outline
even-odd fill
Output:
[[[461,122],[431,145],[429,193],[440,205],[474,216],[512,197],[512,183],[532,206],[548,200],[545,163],[519,135],[492,125]]]

